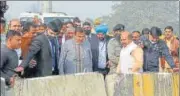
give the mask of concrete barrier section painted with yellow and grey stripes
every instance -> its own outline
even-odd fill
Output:
[[[180,74],[112,74],[106,77],[108,96],[179,96]]]

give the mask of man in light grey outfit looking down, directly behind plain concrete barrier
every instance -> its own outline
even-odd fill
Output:
[[[59,60],[60,74],[92,72],[91,47],[84,39],[83,29],[77,27],[74,38],[64,43]]]

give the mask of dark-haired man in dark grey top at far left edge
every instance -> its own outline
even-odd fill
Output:
[[[18,32],[11,32],[7,35],[6,44],[1,45],[1,77],[6,81],[7,85],[13,86],[14,69],[18,66],[18,55],[15,49],[21,47],[21,35]]]

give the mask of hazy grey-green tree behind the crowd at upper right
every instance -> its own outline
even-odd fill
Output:
[[[110,29],[117,24],[124,24],[130,32],[143,28],[173,26],[179,33],[178,1],[121,1],[114,2],[112,13],[102,16]]]

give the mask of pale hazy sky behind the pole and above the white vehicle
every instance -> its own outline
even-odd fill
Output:
[[[19,14],[26,11],[38,11],[39,1],[7,1],[9,9],[5,18],[18,18]],[[81,20],[108,15],[111,13],[112,1],[52,1],[54,12],[65,12],[71,16],[77,16]]]

